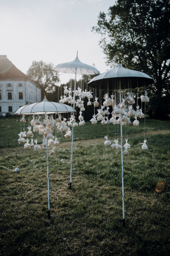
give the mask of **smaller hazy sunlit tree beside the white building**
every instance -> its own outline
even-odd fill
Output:
[[[57,83],[60,81],[58,72],[54,71],[53,66],[51,62],[45,63],[42,60],[34,60],[27,71],[27,76],[42,89],[42,96],[44,94],[44,87],[48,92],[54,91]]]

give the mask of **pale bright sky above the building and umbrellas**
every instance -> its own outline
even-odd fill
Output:
[[[99,46],[100,35],[91,31],[100,12],[115,0],[0,0],[0,55],[23,73],[33,60],[53,63],[80,61],[103,73],[111,68]],[[59,73],[60,83],[71,75]]]

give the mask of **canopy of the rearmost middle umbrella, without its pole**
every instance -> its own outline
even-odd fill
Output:
[[[93,75],[93,74],[99,74],[99,71],[90,65],[87,65],[83,62],[81,62],[76,56],[75,60],[71,62],[65,62],[58,64],[54,70],[58,72],[64,72],[64,73],[77,73],[77,74],[84,74],[84,75]]]

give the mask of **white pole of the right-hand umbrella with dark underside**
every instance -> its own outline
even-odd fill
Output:
[[[121,80],[119,81],[120,104],[122,103]],[[123,206],[123,227],[125,227],[125,205],[124,205],[124,176],[123,176],[123,138],[122,138],[122,114],[120,114],[120,134],[121,134],[121,166],[122,166],[122,206]]]

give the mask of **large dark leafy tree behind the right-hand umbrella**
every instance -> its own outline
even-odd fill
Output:
[[[112,68],[121,56],[126,68],[140,70],[155,80],[151,87],[150,116],[170,109],[170,1],[117,0],[108,13],[100,12],[92,30]],[[151,95],[150,94],[150,95]]]

